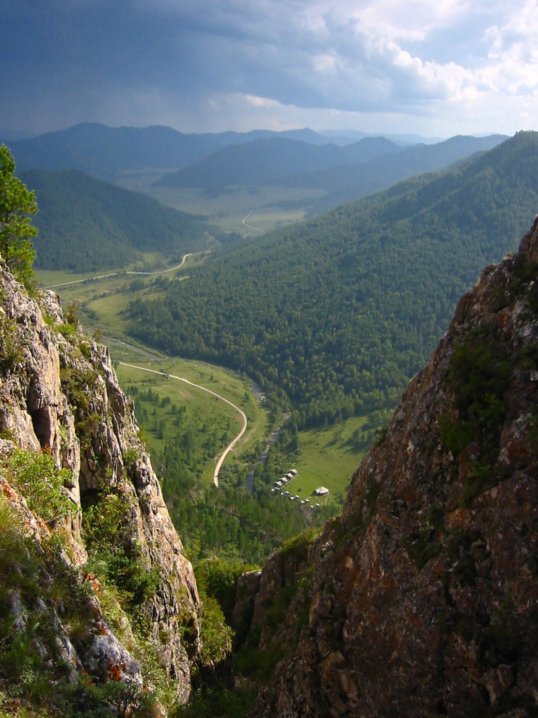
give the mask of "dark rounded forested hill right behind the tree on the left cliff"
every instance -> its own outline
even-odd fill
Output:
[[[125,266],[138,251],[181,258],[214,244],[214,233],[223,237],[217,228],[147,195],[94,180],[76,169],[33,169],[20,177],[38,197],[35,264],[42,269],[82,272]]]

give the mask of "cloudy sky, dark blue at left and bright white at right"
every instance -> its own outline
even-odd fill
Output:
[[[0,132],[538,129],[538,0],[0,0]]]

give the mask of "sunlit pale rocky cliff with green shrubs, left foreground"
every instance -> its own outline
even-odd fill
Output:
[[[186,701],[197,586],[131,401],[108,350],[3,264],[0,429],[2,707],[34,693],[65,714],[163,714],[171,689]]]

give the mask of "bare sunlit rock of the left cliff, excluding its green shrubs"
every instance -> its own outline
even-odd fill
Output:
[[[197,586],[108,350],[66,321],[52,292],[42,294],[40,309],[3,264],[0,298],[1,494],[32,538],[32,551],[43,556],[42,574],[38,571],[35,580],[41,582],[44,595],[51,595],[47,589],[54,580],[50,570],[63,567],[72,582],[72,595],[79,596],[77,625],[82,617],[85,628],[78,632],[73,628],[75,609],[70,614],[65,597],[43,600],[35,595],[35,588],[28,597],[28,582],[22,579],[22,587],[11,590],[8,597],[16,621],[26,625],[36,610],[47,615],[56,627],[56,638],[52,648],[36,639],[37,650],[47,665],[65,662],[73,680],[88,673],[93,682],[108,678],[142,686],[141,666],[130,653],[131,628],[136,623],[138,633],[153,646],[156,660],[175,679],[184,702],[191,688],[192,666],[199,661]],[[65,490],[71,515],[60,526],[64,543],[52,558],[51,528],[58,528],[58,522],[44,523],[16,488],[9,472],[16,448],[51,452],[58,467],[70,470]],[[154,582],[147,595],[141,593],[133,600],[136,609],[131,617],[118,618],[122,612],[115,605],[116,622],[123,623],[121,640],[103,613],[98,580],[81,569],[88,558],[82,540],[82,507],[86,510],[105,501],[115,510],[113,516],[120,517],[122,550],[136,555],[141,574],[147,572]],[[11,570],[19,569],[14,564]],[[151,684],[143,687],[152,689]]]

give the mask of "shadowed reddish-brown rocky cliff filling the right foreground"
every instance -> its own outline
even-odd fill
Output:
[[[461,299],[342,516],[243,579],[282,658],[252,716],[537,714],[537,400],[538,219]]]

